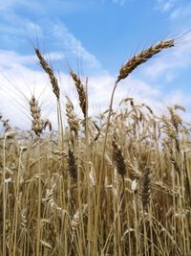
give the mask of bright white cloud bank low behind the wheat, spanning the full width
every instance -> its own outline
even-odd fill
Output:
[[[50,55],[54,56],[54,54]],[[34,95],[39,98],[39,104],[42,102],[43,117],[50,118],[53,122],[53,128],[56,128],[56,106],[52,87],[41,69],[34,71],[28,66],[32,63],[32,59],[34,59],[33,56],[22,57],[14,52],[0,52],[0,110],[5,118],[11,120],[11,124],[20,128],[30,128],[29,103],[24,100],[24,96],[30,100],[35,87]],[[4,61],[6,62],[4,63]],[[60,73],[60,80],[60,84],[64,84],[64,86],[60,86],[62,104],[64,96],[68,95],[74,102],[77,114],[80,115],[81,111],[72,80],[68,74],[62,72]],[[115,77],[109,74],[90,77],[90,115],[96,115],[101,110],[108,108],[114,81]],[[165,95],[159,91],[154,83],[141,81],[134,77],[129,77],[118,84],[114,108],[117,109],[119,102],[126,97],[134,97],[136,103],[151,105],[158,112],[159,110],[162,111],[167,103],[181,104],[183,102],[185,106],[191,104],[189,97],[185,97],[181,91],[172,91],[169,95]],[[64,105],[62,109],[64,109]]]

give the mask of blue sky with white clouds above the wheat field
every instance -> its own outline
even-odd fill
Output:
[[[50,82],[32,45],[44,54],[64,97],[80,113],[70,69],[89,78],[90,114],[108,108],[121,65],[160,40],[175,47],[139,66],[118,84],[114,106],[126,98],[165,111],[186,107],[191,120],[191,1],[188,0],[0,0],[0,113],[13,126],[30,128],[29,100],[56,123]],[[64,111],[64,106],[63,106]]]

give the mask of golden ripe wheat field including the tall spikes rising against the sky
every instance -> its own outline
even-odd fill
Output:
[[[122,65],[109,108],[96,117],[88,116],[87,80],[71,71],[83,119],[67,97],[67,132],[53,68],[34,48],[53,87],[59,136],[43,131],[50,123],[34,96],[31,131],[11,128],[0,115],[0,255],[191,255],[185,109],[171,105],[158,116],[133,98],[113,109],[118,82],[173,46],[161,41]]]

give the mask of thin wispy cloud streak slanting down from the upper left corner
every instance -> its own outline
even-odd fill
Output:
[[[72,6],[78,8],[79,6],[79,3],[76,2],[76,0],[72,0],[71,2],[68,0],[56,0],[56,2],[57,4],[52,5],[52,7],[59,9],[57,10],[58,14],[63,5],[67,8],[72,8]],[[83,0],[82,2],[83,3],[81,3],[82,5],[80,5],[79,9],[81,6],[84,6],[85,3],[90,4],[91,1]],[[54,45],[54,48],[56,48],[55,51],[62,52],[62,58],[63,56],[66,56],[67,58],[74,59],[75,64],[80,59],[87,71],[90,69],[95,69],[95,71],[101,69],[101,63],[96,56],[86,49],[80,38],[77,38],[74,33],[70,31],[64,23],[64,20],[59,18],[59,15],[56,16],[56,18],[53,17],[53,19],[43,16],[34,22],[32,16],[26,16],[25,12],[22,13],[22,15],[14,12],[14,5],[16,3],[19,3],[20,8],[23,7],[23,5],[26,5],[26,12],[29,12],[31,9],[31,4],[28,5],[26,4],[26,1],[23,0],[9,0],[7,5],[4,6],[4,9],[11,7],[10,10],[8,8],[9,12],[3,12],[0,17],[0,33],[2,35],[1,45],[5,49],[11,48],[14,51],[20,51],[20,49],[24,50],[24,48],[29,48],[29,39],[32,39],[32,41],[36,43],[36,37],[40,41],[43,41],[44,38],[46,38],[46,40],[49,41],[49,46]],[[51,17],[53,8],[51,10],[50,3],[51,1],[48,1],[43,8],[50,13]],[[41,4],[39,4],[38,1],[33,1],[32,4],[33,6],[36,5],[36,8],[39,8],[38,12],[42,11]],[[34,7],[32,7],[32,10],[33,8]],[[65,9],[63,8],[63,10]]]

